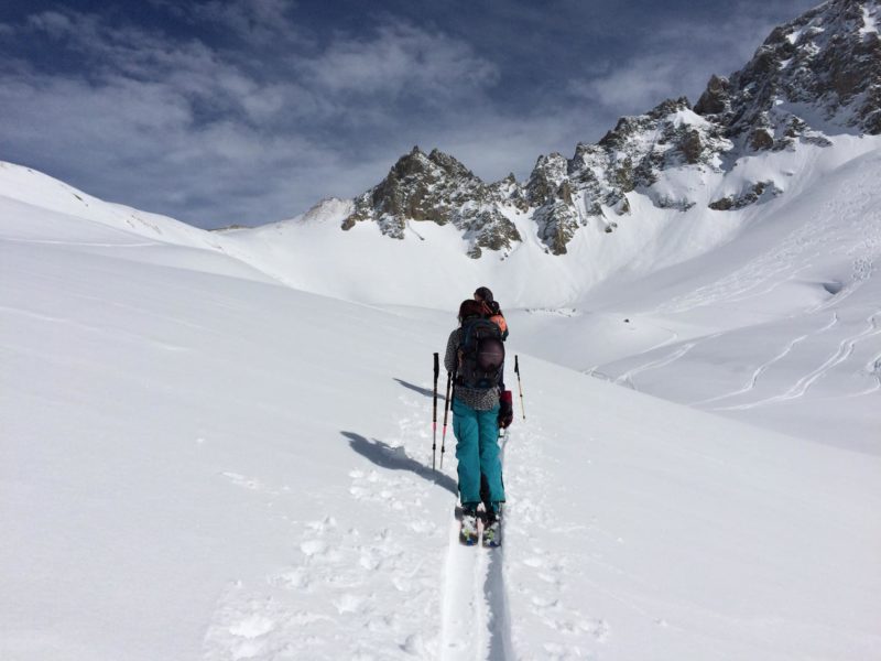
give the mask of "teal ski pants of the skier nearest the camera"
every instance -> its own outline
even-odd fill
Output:
[[[487,478],[493,506],[504,502],[502,464],[499,457],[499,407],[477,411],[453,399],[453,432],[456,434],[459,497],[463,507],[480,502],[480,474]]]

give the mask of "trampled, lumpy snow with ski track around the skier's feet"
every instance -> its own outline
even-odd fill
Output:
[[[402,445],[431,465],[426,400],[402,395],[401,401],[407,409],[400,420]],[[262,581],[238,579],[227,586],[206,630],[203,658],[589,657],[608,640],[610,627],[581,613],[579,596],[567,592],[567,575],[580,574],[583,559],[577,549],[551,553],[542,543],[550,534],[584,527],[550,516],[556,508],[548,496],[552,475],[542,468],[541,423],[519,419],[514,430],[502,444],[503,460],[510,460],[504,541],[498,549],[461,545],[455,500],[406,470],[362,465],[349,470],[352,501],[376,512],[363,522],[346,519],[346,512],[287,520],[279,513],[282,507],[270,506],[291,498],[289,489],[260,476],[220,474],[243,498],[267,500],[269,516],[291,527],[295,561],[271,568]],[[455,437],[447,442],[452,455]],[[452,456],[445,472],[449,477],[455,472]],[[432,520],[425,502],[438,497],[450,503],[450,520]],[[414,534],[424,543],[414,544]]]

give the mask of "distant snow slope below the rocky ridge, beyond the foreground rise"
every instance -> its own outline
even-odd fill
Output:
[[[744,156],[701,181],[665,171],[648,194],[630,194],[614,232],[585,227],[564,256],[547,254],[524,217],[513,218],[524,242],[503,260],[469,259],[455,228],[432,223],[412,224],[404,240],[369,223],[340,231],[349,207],[339,201],[230,232],[225,249],[281,282],[374,305],[454,311],[486,284],[535,356],[881,454],[881,139],[829,142]],[[750,182],[781,193],[707,208]],[[684,187],[700,201],[686,212],[646,196]]]

